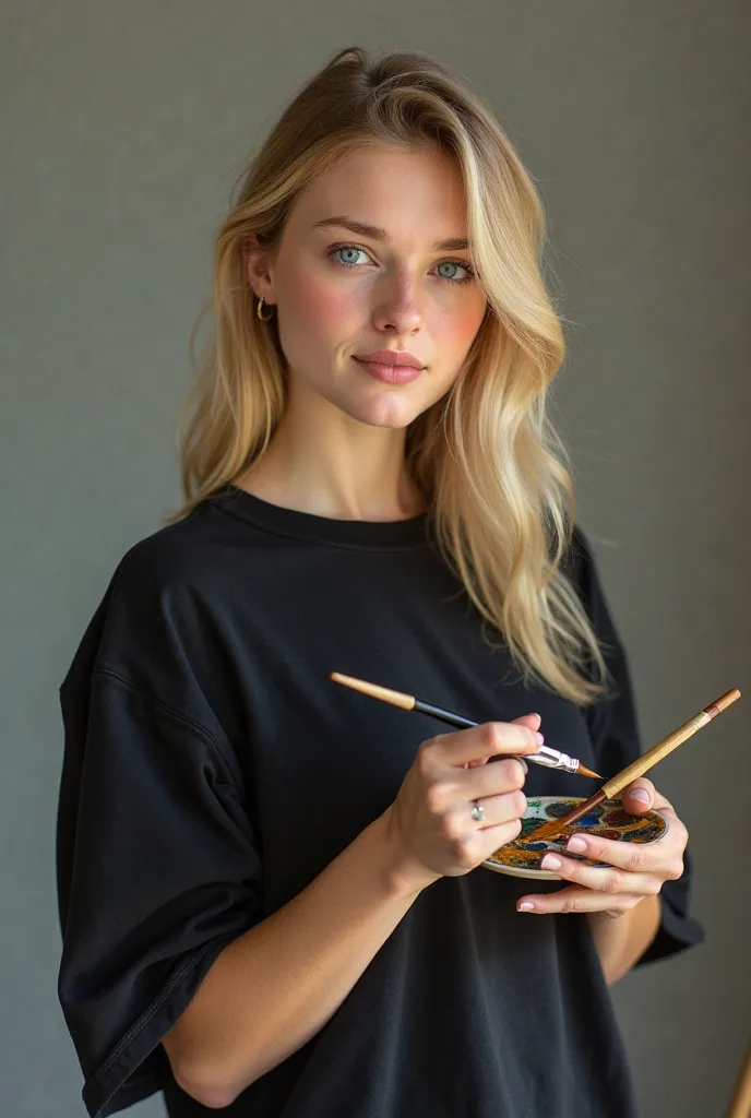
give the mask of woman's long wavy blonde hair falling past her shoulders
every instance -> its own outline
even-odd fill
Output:
[[[255,234],[274,249],[314,176],[373,144],[438,145],[465,186],[467,236],[488,313],[451,389],[415,419],[406,467],[434,539],[525,680],[578,705],[607,671],[586,609],[561,569],[573,531],[565,451],[545,414],[564,357],[561,319],[542,274],[545,218],[498,121],[449,67],[420,51],[370,61],[339,51],[297,93],[253,158],[221,225],[213,262],[213,334],[181,413],[186,517],[264,454],[285,407],[276,321],[257,318],[245,269]],[[205,309],[191,335],[211,310]],[[595,669],[595,671],[592,671]]]

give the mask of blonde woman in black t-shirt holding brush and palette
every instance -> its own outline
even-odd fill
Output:
[[[91,1115],[160,1089],[180,1118],[635,1112],[607,986],[701,936],[685,827],[641,779],[624,804],[669,818],[660,842],[588,840],[606,866],[563,858],[534,892],[481,864],[525,794],[592,790],[526,771],[542,735],[606,774],[639,751],[544,413],[543,235],[498,123],[425,55],[341,51],[253,161],[184,508],[60,689],[59,992]]]

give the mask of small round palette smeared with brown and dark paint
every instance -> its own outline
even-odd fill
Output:
[[[598,835],[600,839],[615,839],[619,842],[657,842],[667,832],[667,819],[658,812],[647,812],[645,815],[629,815],[624,811],[619,799],[606,799],[599,807],[593,807],[576,823],[568,823],[555,839],[543,839],[530,842],[527,835],[550,819],[560,819],[568,815],[583,796],[535,796],[526,802],[526,811],[522,817],[522,831],[513,842],[506,843],[485,859],[483,865],[496,873],[508,873],[514,878],[534,878],[546,881],[561,881],[552,870],[541,870],[540,862],[550,851],[565,854],[567,858],[589,865],[602,865],[582,854],[573,854],[565,849],[571,835],[583,833]]]

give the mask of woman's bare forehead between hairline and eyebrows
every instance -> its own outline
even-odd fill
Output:
[[[466,230],[462,174],[437,148],[380,144],[342,157],[300,195],[289,224],[303,235],[336,215],[383,228],[389,238],[434,240]]]

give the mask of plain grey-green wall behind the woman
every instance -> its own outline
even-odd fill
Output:
[[[748,686],[751,8],[4,0],[0,16],[0,1112],[80,1118],[55,989],[57,688],[115,563],[177,500],[188,334],[246,153],[351,42],[435,53],[505,122],[576,323],[558,408],[650,745]],[[707,941],[615,992],[645,1118],[720,1115],[751,1033],[750,703],[659,768]]]

